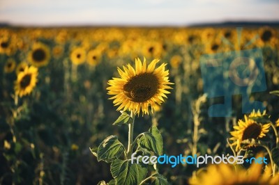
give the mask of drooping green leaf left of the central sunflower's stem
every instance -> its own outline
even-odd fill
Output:
[[[117,136],[108,136],[98,147],[97,160],[103,160],[109,163],[114,159],[118,159],[124,150],[125,148],[119,142]]]

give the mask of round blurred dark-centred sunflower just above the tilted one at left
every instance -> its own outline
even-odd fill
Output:
[[[28,61],[35,67],[43,67],[50,62],[50,49],[47,45],[36,42],[29,51]]]

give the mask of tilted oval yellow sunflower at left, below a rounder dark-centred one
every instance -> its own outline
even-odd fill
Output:
[[[38,68],[30,66],[25,67],[23,72],[17,74],[17,80],[15,81],[15,94],[20,97],[31,93],[36,86],[38,77]]]

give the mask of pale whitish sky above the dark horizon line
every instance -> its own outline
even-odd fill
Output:
[[[0,22],[28,26],[278,20],[279,0],[0,0]]]

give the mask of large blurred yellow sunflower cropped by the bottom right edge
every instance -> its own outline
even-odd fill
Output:
[[[271,166],[267,166],[262,174],[262,165],[252,163],[248,170],[234,168],[224,163],[212,165],[206,171],[190,178],[189,184],[199,185],[236,185],[236,184],[262,184],[276,185],[279,182],[279,174],[272,177]]]

